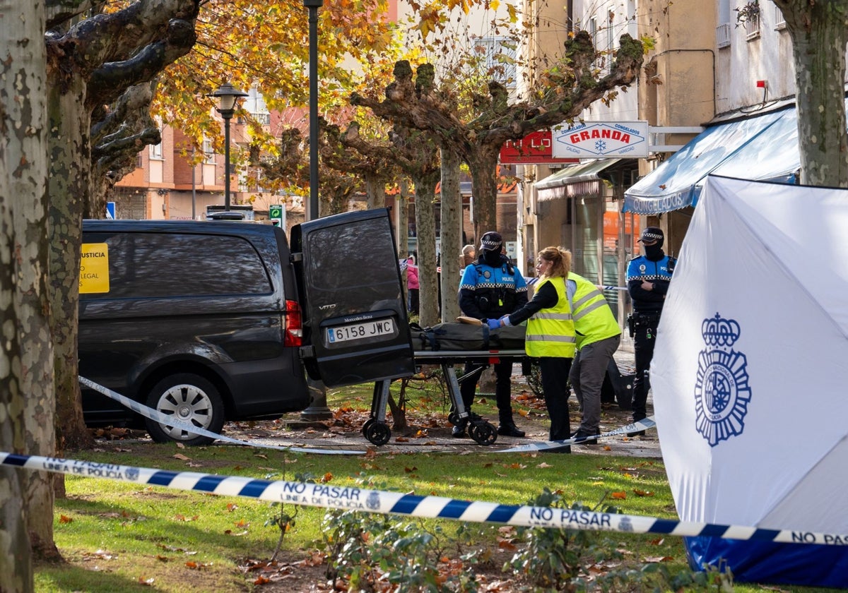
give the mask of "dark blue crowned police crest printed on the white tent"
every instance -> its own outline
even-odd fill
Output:
[[[695,428],[710,446],[717,446],[745,430],[750,402],[748,361],[732,346],[739,339],[739,324],[716,313],[700,326],[706,349],[698,354],[695,380]]]

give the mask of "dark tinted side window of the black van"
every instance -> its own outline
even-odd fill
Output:
[[[242,237],[166,233],[86,236],[105,244],[108,292],[83,299],[271,293],[271,280],[253,245]]]

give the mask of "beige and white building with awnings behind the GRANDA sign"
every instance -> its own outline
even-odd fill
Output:
[[[561,47],[569,25],[589,30],[600,51],[614,50],[624,31],[654,43],[629,91],[608,106],[594,104],[581,118],[646,122],[647,157],[583,160],[559,170],[527,166],[517,218],[528,254],[550,244],[570,247],[578,273],[622,286],[623,264],[639,252],[633,241],[640,227],[660,226],[667,252],[679,252],[710,172],[797,179],[792,46],[772,2],[576,0],[524,7],[542,11],[525,50],[531,66]],[[615,300],[612,291],[606,294]],[[619,294],[622,319],[628,303]]]

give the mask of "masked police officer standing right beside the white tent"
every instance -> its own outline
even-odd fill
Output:
[[[636,353],[636,377],[633,380],[633,422],[645,418],[645,402],[650,390],[648,369],[654,357],[656,326],[660,323],[662,305],[666,302],[668,285],[672,280],[676,258],[662,251],[665,236],[662,229],[649,226],[642,231],[639,242],[643,254],[628,263],[628,293],[633,299],[633,315],[628,319],[633,349]],[[644,430],[628,436],[644,435]]]

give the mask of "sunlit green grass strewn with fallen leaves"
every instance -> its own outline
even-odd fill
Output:
[[[422,403],[427,397],[416,396],[421,407],[416,413],[444,412],[439,409],[442,398],[431,395],[429,404]],[[328,403],[332,409],[341,404],[367,409],[371,391],[332,391]],[[677,518],[665,468],[654,459],[490,452],[321,456],[241,446],[186,449],[147,441],[114,441],[69,457],[259,479],[311,475],[338,486],[371,479],[365,487],[511,505],[526,504],[549,488],[567,502],[613,504],[622,513]],[[249,590],[250,579],[240,567],[250,559],[269,559],[279,538],[279,529],[265,523],[280,507],[268,502],[78,476],[67,476],[65,484],[68,496],[55,503],[54,529],[59,550],[70,562],[37,567],[38,591],[112,592],[151,586],[165,591]],[[295,512],[291,505],[284,509]],[[288,559],[315,549],[324,513],[316,507],[297,509],[296,525],[283,545]],[[449,533],[460,527],[457,522],[438,523]],[[480,546],[492,546],[499,535],[498,526],[472,529],[478,529]],[[686,566],[680,538],[619,533],[607,537],[625,552],[625,562],[637,568],[659,559],[672,572]],[[736,585],[736,590],[762,588]]]

